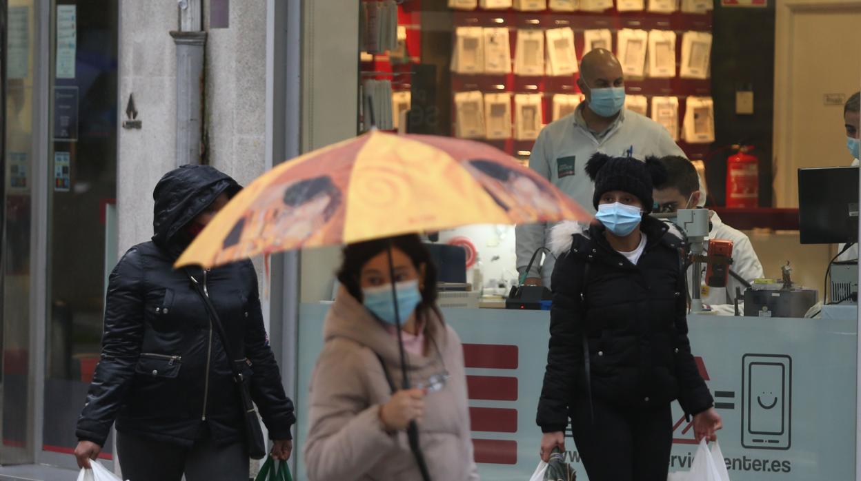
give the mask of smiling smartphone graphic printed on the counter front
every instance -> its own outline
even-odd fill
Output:
[[[792,432],[792,358],[744,355],[741,375],[741,446],[789,449]]]

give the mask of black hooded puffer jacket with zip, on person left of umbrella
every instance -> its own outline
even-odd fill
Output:
[[[96,367],[77,437],[104,444],[117,430],[190,446],[207,431],[220,444],[243,436],[229,361],[251,369],[251,395],[272,439],[290,439],[293,403],[269,348],[251,261],[206,273],[205,281],[231,350],[228,360],[203,300],[173,262],[189,244],[184,227],[222,192],[240,189],[208,166],[183,166],[156,186],[152,242],[128,250],[110,274],[102,359]]]

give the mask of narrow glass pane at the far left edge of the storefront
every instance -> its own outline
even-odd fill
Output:
[[[29,459],[30,299],[34,256],[30,249],[34,205],[34,78],[39,62],[35,2],[5,5],[7,53],[3,78],[3,447],[0,463]]]

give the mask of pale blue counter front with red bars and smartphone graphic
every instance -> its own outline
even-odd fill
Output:
[[[297,406],[307,406],[323,345],[327,305],[300,307]],[[855,473],[856,321],[691,316],[697,367],[723,418],[719,439],[733,481],[852,479]],[[529,479],[538,464],[535,425],[547,360],[546,311],[443,309],[461,337],[474,458],[482,479]],[[822,375],[824,366],[828,375]],[[307,410],[297,413],[297,446]],[[691,423],[673,403],[670,470],[697,451]],[[578,449],[567,460],[586,479]],[[297,478],[307,479],[302,459]]]

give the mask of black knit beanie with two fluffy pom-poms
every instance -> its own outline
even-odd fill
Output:
[[[595,182],[592,205],[596,209],[602,195],[621,190],[635,195],[642,202],[643,211],[651,213],[653,186],[666,182],[666,167],[657,157],[647,157],[643,162],[634,157],[610,157],[598,152],[586,163],[585,170]]]

